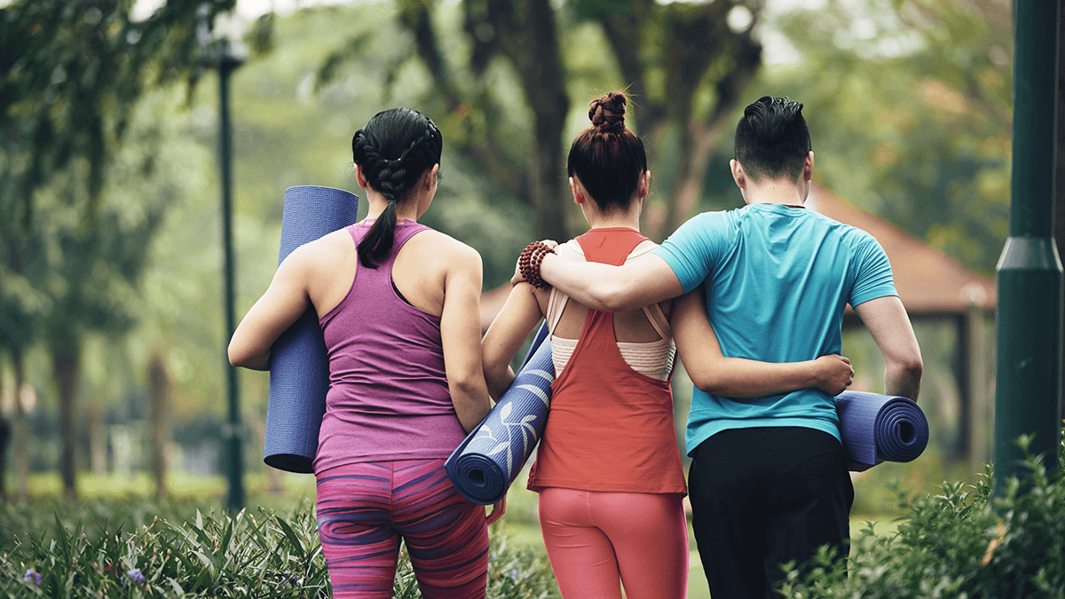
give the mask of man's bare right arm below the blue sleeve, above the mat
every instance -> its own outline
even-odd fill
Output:
[[[870,300],[854,307],[884,355],[884,392],[917,401],[924,362],[914,327],[895,295]]]

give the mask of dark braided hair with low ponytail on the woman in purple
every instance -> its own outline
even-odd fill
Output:
[[[396,205],[433,164],[440,164],[444,139],[428,116],[408,108],[374,115],[351,137],[351,157],[370,187],[388,200],[384,212],[359,242],[359,263],[376,269],[395,241]]]

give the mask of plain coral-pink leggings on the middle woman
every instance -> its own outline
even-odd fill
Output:
[[[688,529],[678,493],[540,491],[540,529],[567,599],[678,599]],[[621,584],[619,584],[619,580]]]

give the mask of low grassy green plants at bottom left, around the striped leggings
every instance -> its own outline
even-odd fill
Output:
[[[77,504],[62,509],[65,519],[55,505],[46,522],[47,507],[0,507],[0,530],[14,533],[3,535],[0,596],[330,596],[307,500],[286,517],[261,508],[258,517],[230,517],[204,514],[195,502],[127,500]],[[149,517],[152,512],[157,516]],[[492,538],[488,596],[557,596],[546,555],[508,548],[498,536]],[[406,552],[394,595],[421,596]]]

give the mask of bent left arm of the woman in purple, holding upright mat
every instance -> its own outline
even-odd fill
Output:
[[[229,363],[269,370],[274,341],[310,309],[306,247],[297,247],[281,262],[266,293],[251,306],[233,331],[229,340]]]

